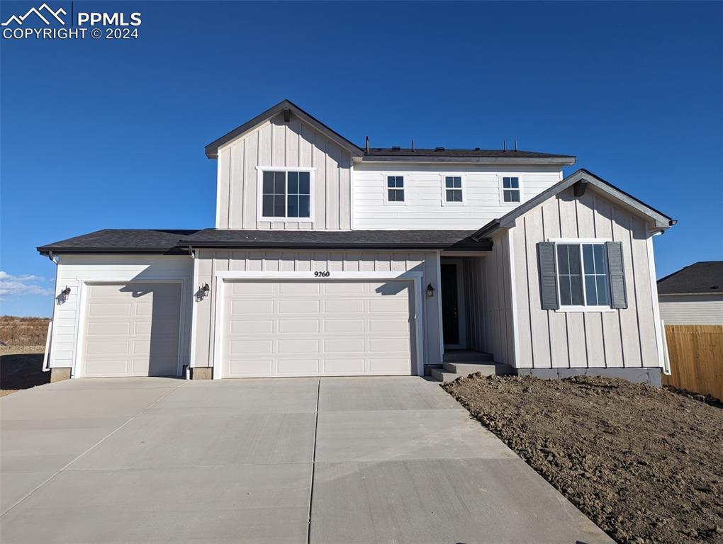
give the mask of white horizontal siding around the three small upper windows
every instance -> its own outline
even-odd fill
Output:
[[[357,163],[354,165],[355,229],[476,230],[519,205],[502,202],[502,178],[520,180],[521,202],[562,179],[560,167]],[[404,202],[385,202],[387,176],[404,177]],[[462,178],[463,202],[447,203],[445,176]]]

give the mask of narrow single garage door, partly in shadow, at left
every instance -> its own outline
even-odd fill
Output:
[[[82,376],[176,376],[179,283],[87,285]]]

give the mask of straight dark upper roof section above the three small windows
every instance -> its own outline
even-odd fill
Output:
[[[442,163],[545,163],[575,164],[573,155],[556,155],[518,150],[448,150],[445,147],[419,149],[411,147],[370,147],[363,160],[370,162],[442,162]]]

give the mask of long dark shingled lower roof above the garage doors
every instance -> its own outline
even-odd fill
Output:
[[[453,249],[489,251],[474,230],[98,230],[38,247],[43,255],[184,254],[191,248],[219,249]]]

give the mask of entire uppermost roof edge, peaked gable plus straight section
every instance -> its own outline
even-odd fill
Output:
[[[435,149],[404,149],[401,147],[373,147],[369,150],[362,150],[356,144],[343,137],[338,132],[330,129],[317,118],[299,108],[291,100],[281,100],[276,105],[249,119],[236,129],[224,134],[221,138],[215,139],[205,147],[206,156],[210,159],[218,158],[219,147],[241,137],[257,126],[262,124],[283,111],[290,111],[305,123],[313,126],[326,137],[337,142],[341,147],[351,152],[353,157],[361,157],[369,162],[441,162],[441,163],[534,163],[534,164],[555,164],[572,165],[575,163],[573,155],[555,155],[554,153],[540,153],[535,151],[518,150],[481,150],[476,147],[474,150],[447,150],[444,147]]]

